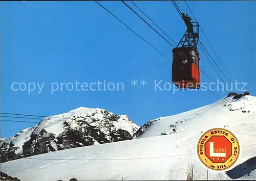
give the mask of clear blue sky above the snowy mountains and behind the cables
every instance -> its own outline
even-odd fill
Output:
[[[121,2],[100,3],[172,59],[173,47],[125,5]],[[135,3],[169,37],[179,42],[186,27],[172,3]],[[200,40],[216,63],[233,81],[246,82],[244,89],[255,96],[256,2],[187,3],[227,71],[224,71],[201,33]],[[130,2],[127,4],[143,16]],[[183,1],[178,1],[177,5],[182,12],[192,16]],[[56,115],[78,107],[102,108],[115,114],[128,115],[138,125],[142,125],[151,119],[202,107],[219,99],[210,91],[174,93],[173,84],[170,84],[170,91],[155,91],[155,80],[162,80],[162,88],[164,83],[172,83],[172,63],[93,1],[2,2],[1,17],[2,112]],[[216,81],[217,73],[202,51],[199,53],[201,66]],[[138,83],[144,79],[147,85],[131,86],[134,79]],[[75,85],[76,81],[80,84],[97,81],[105,81],[107,84],[121,82],[124,91],[68,91],[63,86],[62,91],[51,93],[51,83],[70,82]],[[208,84],[211,82],[204,74],[201,75],[201,81]],[[32,82],[45,84],[40,94],[38,87],[29,94],[28,90],[12,90],[11,85],[14,82],[23,82],[27,86]],[[214,92],[224,97],[229,91]],[[13,136],[34,124],[2,121],[1,136]]]

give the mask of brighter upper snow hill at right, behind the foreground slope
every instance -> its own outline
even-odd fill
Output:
[[[253,96],[234,96],[221,99],[215,104],[204,106],[174,116],[161,117],[154,121],[138,138],[146,138],[180,132],[210,130],[212,127],[230,128],[238,126],[246,117],[255,122],[256,98]],[[248,123],[248,121],[246,123]],[[201,129],[201,130],[200,130]],[[252,131],[254,132],[254,131]]]

